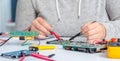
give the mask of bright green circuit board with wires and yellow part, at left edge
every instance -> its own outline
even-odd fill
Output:
[[[4,45],[8,40],[13,37],[19,37],[20,40],[34,40],[36,36],[39,35],[36,31],[11,31],[11,32],[1,32],[0,36],[10,35],[7,40],[0,39],[0,46]]]

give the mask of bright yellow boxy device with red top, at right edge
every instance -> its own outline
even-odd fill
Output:
[[[108,58],[120,58],[120,38],[111,38],[107,45]]]

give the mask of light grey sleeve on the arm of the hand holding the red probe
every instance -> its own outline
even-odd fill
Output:
[[[36,17],[32,0],[18,0],[16,9],[16,30],[28,28]]]

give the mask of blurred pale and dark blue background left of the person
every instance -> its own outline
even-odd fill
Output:
[[[17,0],[0,0],[0,32],[13,30]]]

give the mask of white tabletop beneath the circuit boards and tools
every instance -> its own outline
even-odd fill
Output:
[[[18,39],[15,38],[11,39],[5,45],[0,47],[0,54],[5,52],[24,50],[24,49],[28,50],[29,46],[21,46],[20,42],[21,41],[19,41]],[[37,43],[37,41],[34,41],[34,43]],[[45,43],[46,41],[41,41],[41,44],[45,44]],[[42,50],[39,51],[39,53],[43,55],[49,55],[54,53],[55,56],[52,57],[51,59],[54,59],[55,61],[120,61],[120,59],[107,58],[106,52],[89,54],[89,53],[83,53],[77,51],[68,51],[68,50],[64,50],[61,45],[56,45],[55,50]],[[0,61],[19,61],[19,59],[8,59],[8,58],[0,57]],[[29,56],[26,57],[24,61],[44,61],[44,60],[40,60]]]

